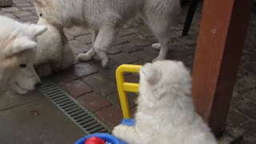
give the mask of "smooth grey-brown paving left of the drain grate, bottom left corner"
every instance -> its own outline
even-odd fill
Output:
[[[84,133],[38,90],[4,94],[0,101],[0,143],[74,143]]]

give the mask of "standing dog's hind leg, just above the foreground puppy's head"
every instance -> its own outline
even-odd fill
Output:
[[[169,38],[168,33],[170,26],[178,21],[180,6],[178,1],[166,0],[147,0],[146,6],[142,11],[144,21],[152,30],[155,38],[158,39],[158,44],[154,44],[154,49],[159,49],[158,57],[154,59],[165,59],[168,53]]]

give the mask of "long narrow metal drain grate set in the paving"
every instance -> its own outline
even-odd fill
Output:
[[[42,86],[38,90],[86,134],[110,133],[108,126],[96,118],[90,110],[76,102],[70,94],[67,94],[54,82],[43,80]]]

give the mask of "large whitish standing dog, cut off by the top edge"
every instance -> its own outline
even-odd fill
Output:
[[[168,51],[168,31],[178,18],[179,0],[34,0],[38,14],[54,25],[89,26],[94,29],[93,47],[86,54],[78,54],[87,61],[95,54],[106,66],[106,51],[112,46],[117,28],[131,18],[141,15],[160,42],[158,59],[165,59]]]

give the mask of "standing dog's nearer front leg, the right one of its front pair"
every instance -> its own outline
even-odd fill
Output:
[[[106,51],[112,46],[115,34],[114,26],[102,26],[94,42],[94,50],[99,58],[101,58],[103,67],[109,62],[109,56]]]

